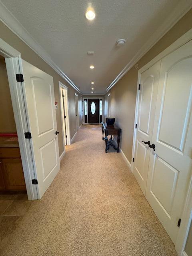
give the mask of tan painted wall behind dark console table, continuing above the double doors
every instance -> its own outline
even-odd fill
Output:
[[[111,94],[110,115],[122,128],[120,147],[131,162],[138,70],[192,28],[192,9],[179,20],[134,66],[107,92]],[[105,100],[107,98],[105,95]],[[106,112],[105,112],[106,116]]]

